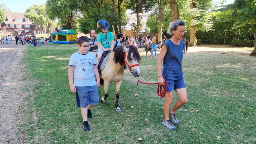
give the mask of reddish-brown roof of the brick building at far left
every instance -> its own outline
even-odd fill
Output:
[[[11,19],[11,21],[8,21]],[[15,22],[15,19],[21,19],[21,22]],[[28,20],[26,22],[26,20]],[[25,13],[22,12],[6,12],[5,11],[5,24],[20,24],[20,25],[35,25],[28,18],[25,17]]]

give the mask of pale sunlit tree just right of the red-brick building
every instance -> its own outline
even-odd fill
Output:
[[[49,32],[49,28],[52,24],[49,17],[46,14],[46,6],[44,4],[32,5],[26,10],[25,16],[35,24],[39,24],[42,27],[47,26],[47,32]]]

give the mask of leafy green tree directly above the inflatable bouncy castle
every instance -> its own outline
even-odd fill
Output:
[[[78,13],[77,4],[70,0],[48,0],[46,1],[47,14],[51,20],[56,18],[69,21],[72,29],[74,27],[74,18]]]

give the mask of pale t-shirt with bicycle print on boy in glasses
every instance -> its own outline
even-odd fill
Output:
[[[94,78],[93,65],[96,65],[95,56],[87,52],[87,54],[80,54],[75,52],[71,55],[69,66],[74,69],[74,85],[75,86],[93,86],[96,85]]]

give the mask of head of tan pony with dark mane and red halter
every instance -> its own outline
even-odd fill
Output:
[[[121,66],[128,66],[134,77],[140,76],[140,68],[138,64],[141,62],[141,57],[137,47],[133,45],[128,47],[118,46],[113,51],[115,52],[115,63],[120,63]]]

